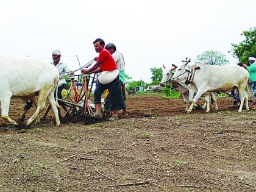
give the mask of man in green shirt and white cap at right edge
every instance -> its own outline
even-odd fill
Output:
[[[243,67],[249,71],[249,79],[252,81],[252,88],[254,90],[254,107],[253,110],[256,110],[256,55],[249,55],[250,66],[243,64]]]

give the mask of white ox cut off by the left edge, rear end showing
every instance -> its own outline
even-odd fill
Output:
[[[24,101],[32,101],[38,95],[37,110],[27,120],[26,125],[38,118],[40,112],[45,108],[46,98],[54,111],[57,126],[60,125],[59,104],[54,99],[54,90],[59,82],[59,71],[54,65],[35,59],[1,57],[0,82],[2,118],[7,119],[13,125],[18,125],[8,115],[10,99],[17,97]]]

